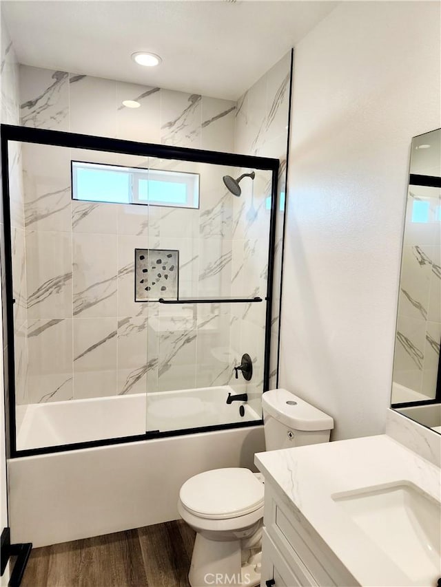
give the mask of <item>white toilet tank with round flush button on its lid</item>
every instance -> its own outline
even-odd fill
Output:
[[[334,420],[287,389],[270,389],[262,396],[267,451],[328,442]]]

